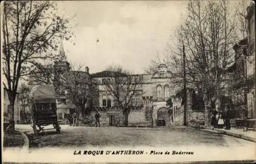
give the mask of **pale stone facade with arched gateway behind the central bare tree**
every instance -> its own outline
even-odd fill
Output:
[[[103,121],[108,125],[122,124],[122,111],[118,110],[117,102],[112,93],[108,93],[105,83],[111,83],[113,72],[102,71],[91,74],[91,78],[97,81],[93,90],[92,107],[101,111]],[[170,119],[166,100],[173,95],[170,89],[172,74],[167,71],[167,66],[159,65],[158,72],[154,74],[136,74],[139,85],[130,101],[131,112],[129,124],[134,126],[169,126],[173,124]]]

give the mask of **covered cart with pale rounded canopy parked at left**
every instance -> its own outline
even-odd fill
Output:
[[[50,129],[56,129],[60,133],[57,119],[57,107],[55,101],[55,91],[53,86],[40,85],[32,88],[31,99],[31,119],[34,134]],[[53,128],[44,129],[44,126],[53,125]]]

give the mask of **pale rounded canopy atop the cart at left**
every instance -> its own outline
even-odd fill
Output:
[[[31,89],[29,97],[38,102],[55,102],[55,91],[53,86],[38,85]]]

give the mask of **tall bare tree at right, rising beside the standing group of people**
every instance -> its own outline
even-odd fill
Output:
[[[187,19],[177,37],[185,48],[187,80],[202,92],[205,126],[210,126],[209,111],[223,95],[226,69],[233,62],[237,24],[227,1],[190,1],[187,9]]]

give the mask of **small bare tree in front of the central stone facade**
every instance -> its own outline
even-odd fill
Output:
[[[106,91],[113,95],[114,102],[121,108],[124,116],[124,125],[128,126],[128,116],[131,112],[130,102],[135,94],[142,94],[142,81],[139,75],[133,75],[119,66],[109,66],[111,81],[104,84]]]

